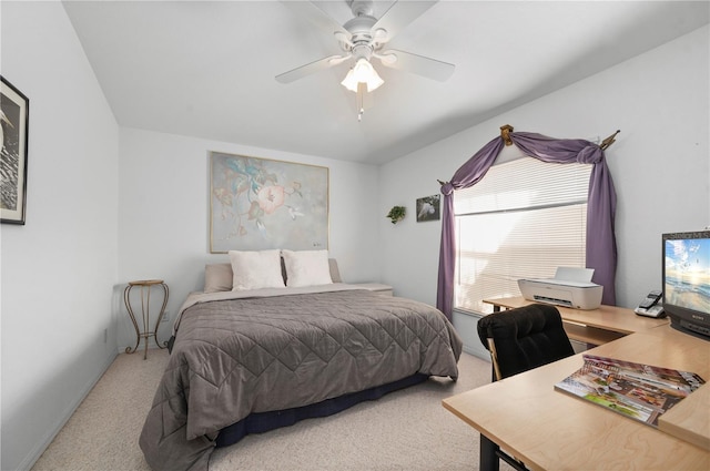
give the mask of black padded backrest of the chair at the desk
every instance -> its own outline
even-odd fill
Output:
[[[490,351],[496,379],[575,354],[555,306],[532,304],[483,317],[478,337]]]

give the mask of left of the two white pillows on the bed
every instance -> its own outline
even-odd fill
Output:
[[[280,250],[230,250],[232,290],[283,288]]]

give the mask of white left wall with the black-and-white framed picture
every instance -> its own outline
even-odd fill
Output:
[[[119,133],[61,3],[1,8],[1,73],[30,100],[27,224],[0,226],[1,468],[21,470],[115,357]]]

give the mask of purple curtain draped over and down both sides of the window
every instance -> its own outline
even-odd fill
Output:
[[[617,197],[604,151],[597,144],[580,139],[559,140],[526,132],[513,132],[509,135],[513,143],[530,157],[558,164],[575,162],[594,164],[589,177],[587,203],[587,267],[595,269],[592,281],[604,286],[601,303],[613,306],[616,304],[617,267],[613,217]],[[436,307],[449,319],[454,301],[456,257],[453,194],[455,190],[468,188],[478,183],[496,161],[503,146],[503,137],[494,139],[457,170],[450,182],[442,185],[444,205]]]

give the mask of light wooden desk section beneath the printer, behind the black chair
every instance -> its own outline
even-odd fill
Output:
[[[523,296],[514,298],[484,299],[494,311],[500,308],[513,309],[527,306],[529,301]],[[638,316],[632,309],[616,306],[599,306],[598,309],[582,310],[556,306],[565,324],[569,338],[591,345],[604,345],[626,335],[668,325],[668,318],[655,319]]]

